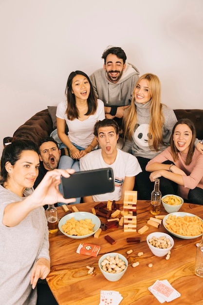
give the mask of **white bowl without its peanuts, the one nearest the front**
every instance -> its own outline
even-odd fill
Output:
[[[109,256],[116,256],[118,254],[119,258],[125,262],[125,265],[126,265],[126,268],[119,272],[119,273],[109,273],[107,271],[104,271],[102,269],[102,266],[101,266],[101,263],[104,261],[104,259],[109,255]],[[99,268],[102,272],[102,274],[104,275],[104,277],[110,281],[110,282],[116,282],[116,281],[119,281],[122,276],[124,275],[124,273],[126,272],[127,268],[128,268],[128,260],[125,258],[125,256],[123,256],[122,254],[119,254],[119,253],[115,253],[115,252],[112,252],[112,253],[106,253],[104,255],[102,255],[99,259],[99,262],[98,262],[98,265],[99,265]]]

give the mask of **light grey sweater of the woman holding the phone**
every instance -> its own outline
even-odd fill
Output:
[[[24,196],[32,193],[24,192]],[[37,259],[49,258],[49,231],[44,208],[31,211],[15,227],[2,224],[5,207],[23,200],[0,185],[0,304],[36,305],[37,289],[30,285],[31,270]]]

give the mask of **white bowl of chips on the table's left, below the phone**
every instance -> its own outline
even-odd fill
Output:
[[[62,217],[58,229],[70,238],[87,238],[92,236],[101,226],[100,219],[89,212],[74,212]]]

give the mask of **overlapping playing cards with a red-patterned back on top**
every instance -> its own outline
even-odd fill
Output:
[[[165,281],[157,280],[152,286],[150,286],[149,291],[159,300],[160,303],[170,302],[180,297],[180,293],[174,289],[170,283]]]

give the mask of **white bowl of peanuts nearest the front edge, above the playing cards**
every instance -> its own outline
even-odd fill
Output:
[[[128,260],[119,253],[106,253],[99,259],[99,268],[104,277],[111,282],[119,281],[128,267]]]

